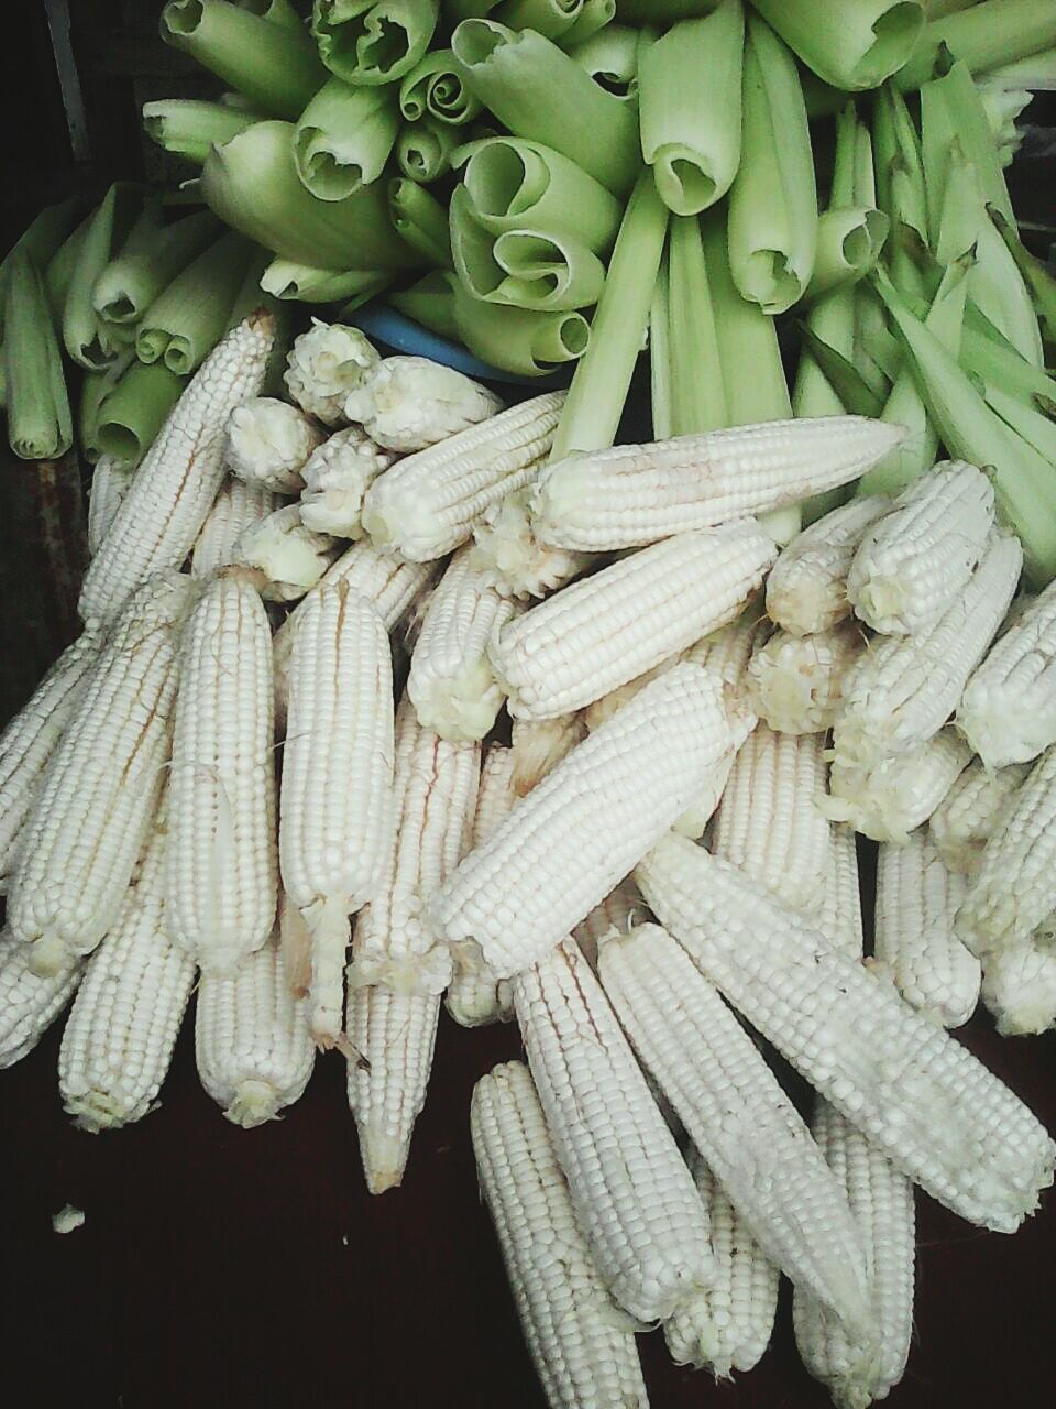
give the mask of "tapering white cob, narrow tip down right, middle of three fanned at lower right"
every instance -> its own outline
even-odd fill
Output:
[[[598,972],[641,1062],[763,1253],[866,1333],[865,1254],[850,1210],[734,1013],[659,924],[607,940]]]

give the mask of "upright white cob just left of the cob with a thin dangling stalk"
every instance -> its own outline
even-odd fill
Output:
[[[231,969],[275,924],[272,630],[227,568],[183,634],[169,769],[169,937],[206,972]]]

